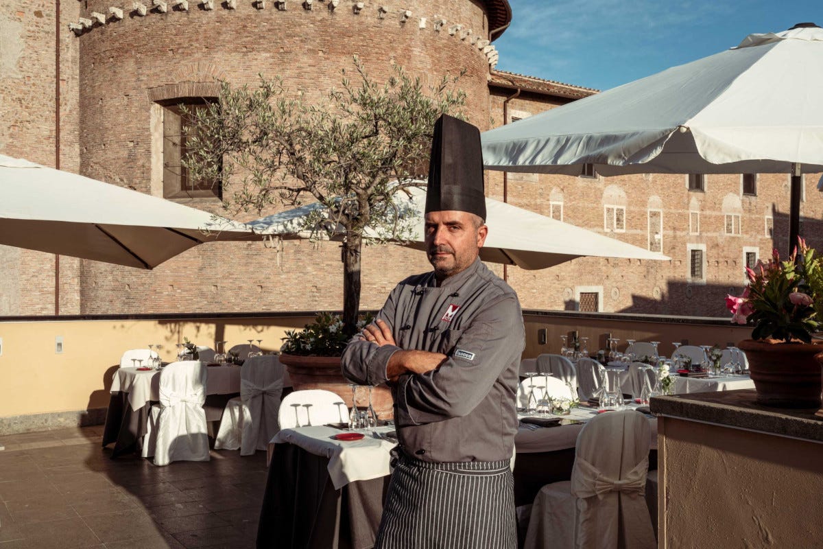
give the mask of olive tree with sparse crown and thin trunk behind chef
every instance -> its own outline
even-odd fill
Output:
[[[353,66],[354,78],[344,69],[342,86],[320,101],[279,77],[260,76],[255,88],[221,82],[219,101],[193,114],[184,159],[194,180],[231,189],[227,210],[321,204],[305,228],[342,240],[347,333],[360,306],[362,246],[407,238],[412,220],[398,193],[425,185],[435,121],[462,117],[466,99],[463,73],[424,86],[402,67],[379,83],[359,59]]]

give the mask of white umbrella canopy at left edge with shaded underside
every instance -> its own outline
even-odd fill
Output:
[[[252,238],[235,221],[0,155],[0,244],[149,269],[203,242]]]

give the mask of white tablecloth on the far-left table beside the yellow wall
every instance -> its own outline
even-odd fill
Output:
[[[209,366],[206,394],[231,394],[240,392],[239,366]],[[160,400],[160,370],[137,370],[132,366],[119,368],[111,383],[111,392],[128,393],[128,403],[133,410],[146,406],[152,400]]]

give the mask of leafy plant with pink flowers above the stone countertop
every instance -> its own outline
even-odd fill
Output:
[[[726,297],[732,323],[753,325],[752,339],[810,343],[823,321],[823,260],[815,250],[798,239],[786,261],[775,249],[746,276],[742,295]]]

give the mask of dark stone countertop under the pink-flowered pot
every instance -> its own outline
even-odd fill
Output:
[[[754,389],[688,393],[651,400],[652,413],[686,421],[704,421],[737,429],[823,442],[823,418],[813,409],[758,404]]]

